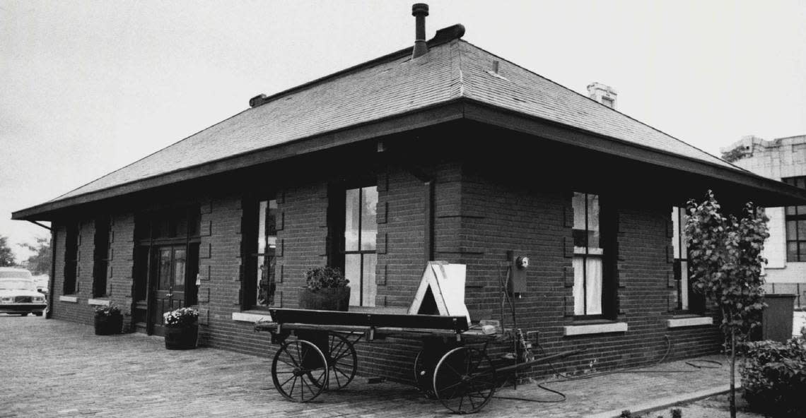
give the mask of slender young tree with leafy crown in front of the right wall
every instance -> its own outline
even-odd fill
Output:
[[[745,205],[742,216],[723,215],[713,192],[688,202],[686,237],[696,292],[712,300],[722,314],[725,346],[730,346],[730,416],[736,417],[736,342],[758,325],[762,301],[761,256],[767,233],[763,209]]]

